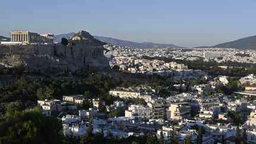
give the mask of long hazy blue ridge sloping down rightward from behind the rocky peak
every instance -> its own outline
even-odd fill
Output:
[[[127,40],[119,40],[119,39],[113,39],[111,37],[101,37],[101,36],[94,36],[95,39],[98,39],[100,41],[103,41],[105,43],[115,44],[118,46],[127,46],[132,48],[152,48],[153,46],[157,45],[159,48],[166,48],[166,47],[177,47],[180,48],[180,46],[175,46],[174,44],[159,44],[159,43],[151,43],[151,42],[145,42],[145,43],[136,43],[132,41]]]

